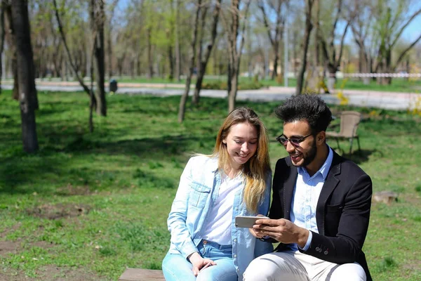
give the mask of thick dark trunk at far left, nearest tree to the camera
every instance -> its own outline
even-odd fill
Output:
[[[35,122],[35,110],[38,109],[38,98],[36,97],[34,80],[34,55],[32,53],[28,7],[27,1],[25,0],[13,0],[11,5],[18,63],[23,150],[32,153],[38,150]]]

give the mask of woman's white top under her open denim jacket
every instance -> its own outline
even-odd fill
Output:
[[[235,178],[229,178],[224,172],[221,173],[218,198],[210,208],[208,219],[203,224],[204,240],[216,242],[220,245],[232,244],[232,206],[234,196],[241,188],[243,188],[241,174]]]

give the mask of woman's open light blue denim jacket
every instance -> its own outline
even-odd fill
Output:
[[[269,211],[272,173],[268,172],[264,200],[258,206],[258,214]],[[171,232],[169,252],[187,256],[198,251],[201,230],[208,216],[211,202],[218,198],[221,183],[218,158],[195,156],[189,159],[180,178],[177,194],[168,216],[168,230]],[[236,228],[236,216],[255,216],[246,209],[242,200],[243,189],[236,192],[232,214],[232,259],[242,280],[244,270],[256,257],[273,251],[272,244],[262,242],[250,234],[248,228]]]

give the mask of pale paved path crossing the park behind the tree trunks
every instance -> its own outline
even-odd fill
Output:
[[[2,85],[4,89],[11,89],[12,85]],[[38,91],[83,91],[78,82],[49,82],[37,81],[36,89]],[[106,87],[106,91],[107,87]],[[152,94],[156,96],[180,96],[184,91],[182,84],[140,84],[140,83],[119,83],[118,94]],[[194,87],[190,91],[192,95]],[[253,101],[274,101],[285,100],[293,95],[295,88],[269,86],[265,89],[259,90],[243,90],[238,91],[238,100],[253,100]],[[383,92],[383,91],[357,91],[344,90],[344,95],[349,98],[349,105],[377,107],[394,110],[407,110],[412,108],[417,100],[421,101],[420,93],[397,93],[397,92]],[[225,98],[227,91],[224,90],[201,90],[201,96],[213,98]],[[326,103],[338,104],[340,100],[335,94],[321,94],[321,98]]]

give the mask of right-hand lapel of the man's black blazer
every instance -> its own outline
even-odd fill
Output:
[[[325,218],[325,207],[326,202],[328,201],[328,197],[330,194],[335,190],[340,182],[339,178],[337,177],[340,174],[340,156],[333,152],[333,160],[332,164],[330,165],[330,170],[328,176],[326,177],[326,181],[323,184],[323,188],[321,188],[319,201],[317,202],[316,207],[316,221],[317,221],[317,228],[319,228],[319,233],[321,235],[325,235],[325,226],[324,226],[324,218]]]

